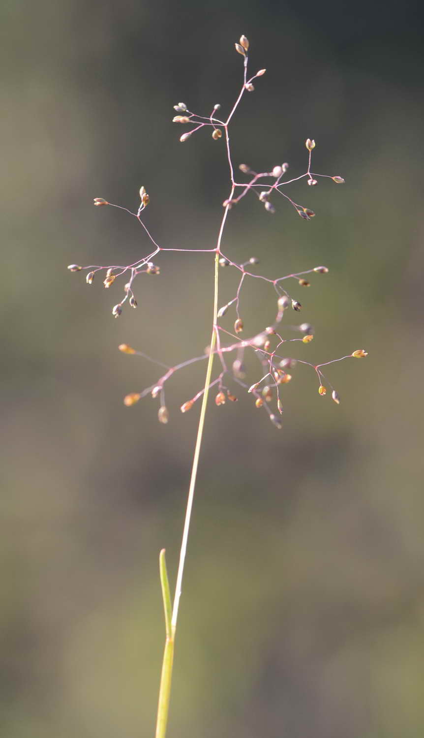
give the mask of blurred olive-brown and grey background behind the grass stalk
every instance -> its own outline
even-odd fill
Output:
[[[333,365],[337,407],[297,368],[283,429],[251,396],[211,404],[176,648],[169,736],[417,738],[424,733],[422,396],[423,46],[420,4],[233,0],[5,0],[1,395],[1,734],[115,738],[154,732],[164,625],[158,554],[178,559],[203,367],[159,376],[128,342],[173,364],[209,342],[213,267],[164,255],[139,308],[66,265],[131,263],[148,244],[212,247],[228,193],[223,142],[184,145],[184,100],[232,105],[241,58],[267,68],[232,131],[234,162],[305,168],[268,215],[232,210],[223,249],[277,276],[324,263],[296,356]],[[220,303],[234,294],[222,272]],[[252,333],[272,289],[246,284]],[[296,288],[296,285],[295,285]],[[297,316],[295,316],[297,318]],[[224,319],[224,320],[227,320]],[[294,321],[296,322],[296,321]],[[228,325],[232,324],[229,315]],[[293,351],[293,354],[295,352]],[[303,356],[300,356],[302,354]],[[257,373],[252,376],[252,381]]]

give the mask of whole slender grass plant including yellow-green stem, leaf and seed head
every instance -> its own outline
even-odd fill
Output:
[[[186,131],[184,134],[181,135],[181,142],[187,141],[187,139],[192,137],[193,134],[195,134],[196,132],[201,131],[203,128],[209,127],[209,130],[210,128],[212,128],[212,138],[215,141],[219,141],[223,138],[226,143],[226,155],[229,164],[230,177],[229,196],[223,202],[224,210],[223,216],[220,221],[220,228],[216,245],[212,249],[181,249],[176,247],[165,248],[164,246],[159,246],[159,244],[156,243],[153,236],[150,234],[149,230],[147,230],[147,227],[143,220],[143,213],[145,211],[145,208],[149,204],[149,196],[145,190],[145,187],[141,187],[139,191],[140,204],[136,212],[132,212],[126,207],[121,207],[120,205],[109,203],[102,198],[94,199],[94,204],[97,205],[97,207],[106,205],[109,205],[110,207],[118,207],[120,210],[125,210],[126,213],[129,213],[134,218],[136,218],[145,232],[147,241],[151,244],[150,249],[147,249],[149,251],[147,255],[142,256],[142,258],[139,258],[139,260],[134,262],[133,264],[127,264],[125,266],[112,264],[109,266],[97,265],[82,267],[78,266],[77,264],[70,264],[68,267],[71,272],[80,272],[82,269],[84,269],[87,272],[86,281],[88,284],[93,283],[95,275],[100,272],[102,274],[103,284],[106,289],[111,288],[111,286],[113,286],[114,283],[117,281],[118,277],[125,277],[124,294],[122,300],[120,300],[120,302],[117,303],[112,309],[112,314],[114,315],[114,317],[119,317],[119,315],[122,314],[122,308],[125,306],[125,303],[128,303],[133,308],[136,308],[137,306],[136,297],[134,294],[134,283],[136,277],[139,277],[139,275],[159,275],[159,265],[153,260],[156,260],[156,258],[160,258],[160,256],[164,252],[202,252],[205,254],[213,254],[214,256],[215,287],[213,298],[212,330],[210,345],[204,354],[202,354],[201,356],[195,356],[192,359],[187,359],[187,361],[181,362],[181,364],[175,366],[167,366],[163,362],[147,356],[147,354],[142,351],[136,351],[128,344],[121,344],[119,346],[119,351],[122,351],[123,354],[142,356],[144,359],[147,359],[148,361],[153,362],[162,368],[163,373],[161,373],[161,376],[159,376],[159,379],[157,379],[154,384],[152,384],[150,387],[146,387],[144,390],[129,393],[127,396],[125,396],[124,402],[125,405],[131,406],[139,401],[139,399],[147,396],[148,394],[153,396],[153,398],[158,398],[159,421],[165,424],[169,420],[169,413],[165,404],[165,385],[167,384],[168,380],[171,379],[171,377],[173,377],[173,375],[177,371],[183,368],[189,367],[196,362],[206,362],[206,377],[203,389],[199,390],[191,399],[188,399],[181,405],[181,412],[186,413],[187,410],[190,410],[193,404],[198,401],[198,399],[201,399],[201,411],[199,414],[198,433],[195,441],[195,452],[190,476],[190,487],[187,499],[187,508],[184,520],[184,530],[181,542],[181,551],[176,577],[175,597],[173,600],[173,605],[171,605],[170,601],[169,583],[167,579],[164,550],[161,551],[159,559],[161,587],[164,599],[166,641],[161,672],[161,686],[159,690],[156,738],[164,738],[167,727],[167,715],[170,703],[170,687],[173,670],[175,630],[178,618],[178,604],[181,597],[184,562],[187,552],[187,540],[190,529],[190,517],[195,494],[195,483],[198,471],[198,461],[201,450],[206,403],[209,396],[209,390],[212,387],[216,387],[218,392],[215,396],[215,403],[217,405],[222,405],[225,404],[227,400],[230,402],[234,402],[237,400],[237,397],[232,391],[232,387],[229,387],[228,384],[234,383],[239,385],[239,387],[243,388],[243,390],[246,390],[247,393],[251,394],[254,397],[254,403],[256,407],[263,407],[265,409],[274,426],[277,428],[281,428],[282,426],[280,415],[282,414],[282,399],[280,393],[282,390],[282,384],[287,384],[291,381],[291,372],[296,366],[296,363],[312,368],[313,371],[316,373],[316,377],[319,382],[319,394],[324,396],[327,393],[326,385],[328,385],[331,389],[333,400],[336,402],[336,404],[339,404],[340,399],[338,393],[333,388],[333,385],[326,379],[322,369],[324,367],[327,367],[327,365],[334,364],[336,362],[342,361],[343,359],[348,359],[350,357],[361,358],[366,356],[366,351],[360,349],[358,351],[353,351],[352,354],[348,354],[347,356],[341,356],[340,359],[333,359],[333,361],[324,362],[322,364],[316,365],[313,364],[313,362],[305,361],[305,359],[294,359],[293,356],[285,355],[285,347],[283,348],[283,344],[286,344],[288,342],[302,342],[305,344],[309,344],[313,340],[314,334],[312,325],[310,325],[310,323],[301,323],[300,325],[296,326],[284,326],[283,318],[286,312],[293,310],[295,313],[299,313],[302,308],[302,305],[297,297],[288,292],[288,289],[286,288],[288,287],[289,283],[293,283],[293,280],[296,280],[298,286],[302,288],[309,287],[310,282],[308,281],[308,275],[312,275],[313,277],[315,277],[316,275],[326,274],[328,272],[326,266],[314,266],[311,269],[306,269],[304,272],[296,272],[293,274],[285,275],[283,277],[276,277],[272,279],[257,274],[257,272],[254,272],[254,267],[257,266],[257,264],[259,263],[257,258],[251,257],[244,263],[236,263],[235,261],[232,261],[229,256],[224,254],[223,250],[221,249],[224,227],[229,211],[236,204],[240,203],[240,201],[242,201],[243,198],[245,198],[249,193],[257,197],[258,201],[263,204],[265,210],[268,213],[275,212],[274,204],[271,200],[274,197],[274,194],[277,193],[278,195],[288,200],[291,206],[295,208],[297,213],[299,213],[299,215],[304,220],[309,221],[311,218],[313,218],[315,213],[313,212],[313,210],[310,210],[310,208],[299,205],[297,202],[291,199],[285,192],[285,188],[287,187],[287,185],[293,184],[293,182],[299,182],[303,179],[306,180],[309,186],[314,187],[319,182],[320,178],[332,179],[333,182],[336,182],[336,184],[343,184],[344,182],[344,179],[342,179],[341,176],[329,176],[325,174],[317,174],[311,171],[312,151],[313,148],[315,148],[315,141],[313,141],[313,139],[307,139],[305,142],[307,149],[307,170],[305,171],[305,173],[291,179],[285,179],[288,171],[287,163],[276,165],[274,166],[274,168],[271,169],[271,171],[260,173],[254,172],[246,164],[240,164],[239,170],[241,173],[243,173],[244,176],[248,177],[248,181],[236,182],[234,178],[234,166],[232,162],[232,154],[229,141],[229,125],[231,123],[232,117],[234,116],[234,112],[236,111],[237,106],[239,105],[240,100],[243,97],[243,94],[245,94],[245,92],[254,91],[253,82],[258,77],[262,77],[265,74],[265,69],[260,69],[260,71],[257,72],[256,75],[248,79],[247,52],[249,49],[249,41],[247,40],[246,36],[241,36],[240,43],[235,44],[235,48],[237,52],[243,57],[243,86],[240,89],[237,100],[235,101],[234,106],[229,112],[229,115],[225,121],[220,120],[218,117],[216,117],[220,109],[219,105],[213,106],[212,113],[209,115],[209,117],[192,113],[190,110],[187,109],[187,106],[184,103],[178,103],[178,105],[174,106],[177,115],[173,118],[173,122],[181,125],[192,126],[189,131]],[[240,278],[238,280],[237,287],[234,288],[235,294],[233,293],[231,299],[227,300],[226,303],[218,309],[218,274],[220,267],[235,270]],[[268,285],[271,286],[273,294],[277,298],[277,313],[275,314],[273,323],[265,326],[265,328],[263,328],[263,330],[259,333],[254,334],[249,338],[243,338],[240,336],[240,334],[243,334],[244,329],[243,319],[240,316],[240,294],[243,289],[243,284],[246,282],[246,280],[249,279],[263,280],[265,283],[268,283]],[[232,318],[235,319],[233,331],[229,331],[229,329],[225,328],[224,325],[220,325],[221,320],[226,316],[226,314],[232,314]],[[295,331],[296,336],[286,337],[285,331],[288,330]],[[253,384],[250,384],[250,386],[245,381],[246,366],[244,362],[246,352],[250,352],[251,354],[256,356],[260,364],[260,370],[258,371],[258,375],[255,378],[255,382]],[[213,378],[212,366],[215,356],[218,359],[219,370],[218,376]]]

